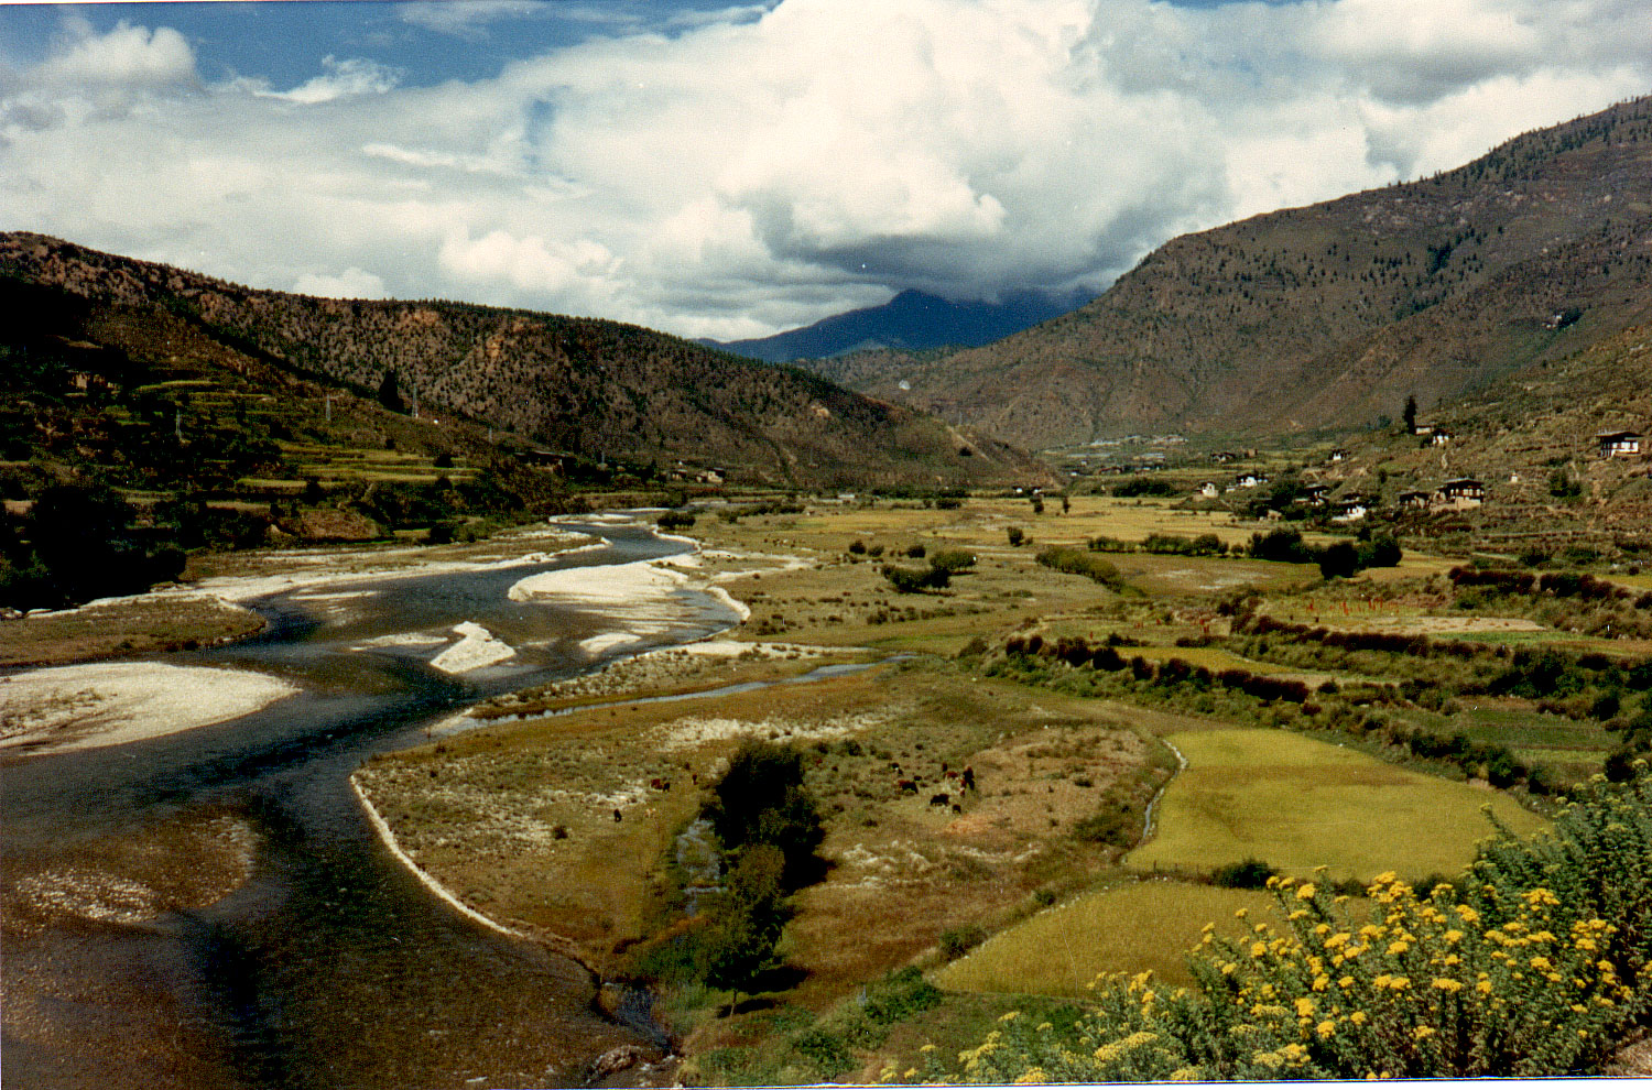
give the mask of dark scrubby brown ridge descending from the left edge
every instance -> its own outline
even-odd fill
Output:
[[[638,325],[461,302],[316,299],[0,235],[0,304],[33,307],[41,292],[78,315],[73,329],[45,332],[84,350],[157,362],[187,350],[367,395],[393,382],[416,390],[428,413],[593,459],[684,459],[816,487],[1047,474],[920,411]],[[0,330],[0,345],[12,332]]]

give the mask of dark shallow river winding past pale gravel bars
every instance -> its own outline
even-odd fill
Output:
[[[99,1090],[550,1087],[580,1085],[605,1049],[654,1044],[598,1011],[578,963],[433,897],[385,851],[349,784],[365,758],[423,742],[469,702],[591,667],[577,642],[605,631],[603,618],[514,603],[517,580],[689,548],[641,527],[570,528],[611,543],[529,566],[261,600],[259,637],[162,659],[278,674],[299,695],[164,738],[0,765],[0,1078]],[[707,595],[674,598],[676,619],[649,642],[737,621]],[[517,657],[454,677],[428,666],[431,646],[395,642],[463,621]],[[192,869],[210,869],[177,849],[198,841],[157,841],[157,829],[249,829],[249,877],[211,903],[142,918],[20,912],[20,890],[40,875],[83,885],[96,875],[119,892],[122,867],[162,865],[185,885]],[[155,851],[169,852],[160,864]]]

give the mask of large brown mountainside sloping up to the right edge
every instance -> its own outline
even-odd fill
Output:
[[[1171,239],[981,348],[834,377],[1026,448],[1427,413],[1652,319],[1652,97],[1408,185]]]

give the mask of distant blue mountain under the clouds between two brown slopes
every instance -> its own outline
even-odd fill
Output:
[[[1003,302],[950,302],[920,291],[904,291],[879,307],[834,314],[813,325],[773,337],[702,344],[770,363],[824,360],[869,348],[973,348],[1066,314],[1082,297],[1018,292]]]

